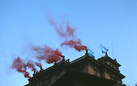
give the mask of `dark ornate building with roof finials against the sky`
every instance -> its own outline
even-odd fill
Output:
[[[121,65],[107,55],[95,59],[85,55],[69,62],[63,57],[59,63],[33,74],[25,86],[123,86],[125,78]]]

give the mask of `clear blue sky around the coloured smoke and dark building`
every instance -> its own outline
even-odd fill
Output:
[[[11,65],[18,56],[31,57],[31,44],[58,48],[70,61],[85,54],[60,47],[62,39],[49,17],[59,24],[68,20],[76,27],[77,38],[94,52],[95,59],[104,56],[99,48],[104,45],[108,55],[121,64],[120,72],[126,76],[123,83],[137,83],[136,0],[0,0],[0,86],[28,83]],[[53,64],[42,65],[45,69]]]

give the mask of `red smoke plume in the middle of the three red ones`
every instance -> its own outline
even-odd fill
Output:
[[[45,60],[48,64],[53,63],[54,61],[61,61],[61,57],[63,56],[58,49],[53,50],[47,45],[45,45],[44,47],[32,46],[32,49],[37,54],[37,59]]]

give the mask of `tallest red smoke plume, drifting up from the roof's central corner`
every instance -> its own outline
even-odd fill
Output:
[[[55,21],[53,21],[53,19],[50,19],[49,22],[52,26],[54,26],[55,30],[57,31],[57,34],[61,38],[65,38],[65,41],[63,43],[61,43],[61,47],[62,46],[68,46],[68,47],[76,49],[77,51],[87,50],[87,47],[85,45],[81,44],[80,39],[78,39],[78,40],[74,39],[75,38],[74,32],[75,32],[76,28],[72,28],[69,25],[69,21],[67,21],[65,32],[63,32],[62,26],[58,25]],[[71,39],[69,40],[69,38],[71,38]]]

